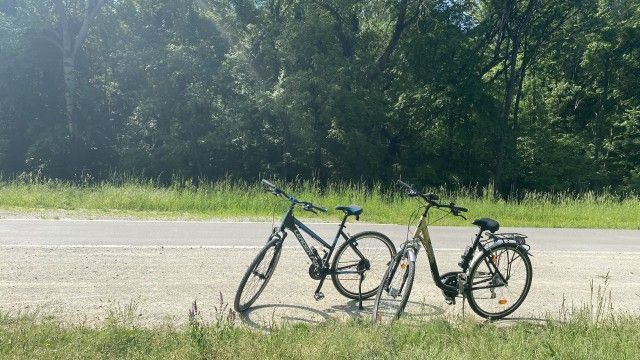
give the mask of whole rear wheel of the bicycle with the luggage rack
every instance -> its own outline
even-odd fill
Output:
[[[483,318],[501,319],[522,304],[529,293],[531,278],[531,260],[522,247],[496,246],[469,270],[469,306]]]

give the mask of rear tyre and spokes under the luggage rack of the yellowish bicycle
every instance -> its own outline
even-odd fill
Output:
[[[531,280],[533,277],[533,271],[531,267],[531,260],[527,255],[526,250],[522,247],[511,244],[504,243],[500,244],[489,250],[491,254],[482,255],[469,270],[469,276],[467,279],[467,289],[466,296],[467,301],[469,302],[469,307],[479,316],[490,319],[490,320],[498,320],[502,319],[505,316],[510,315],[514,311],[520,307],[522,302],[524,302],[527,294],[529,293],[529,289],[531,288]],[[513,252],[514,255],[509,259],[509,252]],[[503,261],[506,255],[506,262]],[[516,255],[518,257],[516,258]],[[495,258],[492,259],[492,257]],[[513,262],[517,259],[522,259],[522,264],[524,266],[525,275],[523,278],[513,278],[512,266]],[[498,267],[501,273],[506,274],[506,280],[509,285],[515,285],[512,287],[513,289],[518,289],[519,284],[522,283],[522,290],[520,294],[517,296],[515,301],[511,301],[512,299],[507,299],[507,296],[511,298],[511,291],[509,289],[509,285],[493,287],[490,289],[477,289],[474,290],[474,285],[484,286],[484,283],[495,284],[495,282],[501,282],[501,280],[497,277],[497,275],[490,275],[491,271],[482,271],[481,269],[490,269],[489,262],[493,262],[494,266]],[[506,264],[505,271],[501,268],[502,265]],[[514,281],[519,280],[519,281]],[[497,300],[496,300],[497,299]],[[504,301],[504,303],[503,303]],[[511,305],[509,307],[504,308],[503,305],[508,304],[511,301]],[[495,308],[499,309],[498,311],[490,311],[488,308],[493,304]],[[499,305],[499,306],[496,306]]]

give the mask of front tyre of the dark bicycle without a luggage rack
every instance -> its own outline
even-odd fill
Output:
[[[261,279],[263,280],[263,282],[257,287],[257,291],[255,291],[255,293],[250,294],[249,298],[243,301],[243,295],[246,295],[244,294],[244,292],[246,290],[245,287],[247,286],[247,282],[251,278],[251,275],[255,275],[255,277],[260,279],[260,276],[258,274],[255,274],[255,270],[256,268],[258,268],[258,266],[260,266],[263,263],[263,260],[265,260],[265,258],[267,257],[267,252],[272,248],[273,248],[273,255],[271,255],[270,259],[268,259],[269,263],[267,265],[266,270],[263,273],[259,273],[263,277],[263,279]],[[267,283],[269,282],[269,280],[271,280],[271,276],[273,275],[273,272],[275,271],[276,266],[278,265],[278,260],[280,260],[281,252],[282,252],[282,239],[277,236],[272,236],[271,240],[267,242],[267,244],[262,248],[262,250],[260,250],[260,252],[253,259],[253,261],[247,268],[247,271],[245,272],[244,276],[242,277],[240,284],[238,285],[238,290],[236,291],[236,297],[233,302],[233,308],[237,312],[243,312],[247,310],[258,299],[260,294],[262,294],[262,291],[264,291],[264,288],[267,286]]]

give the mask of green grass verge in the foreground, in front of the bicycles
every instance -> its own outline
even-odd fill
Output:
[[[499,323],[498,323],[499,324]],[[512,325],[438,318],[376,326],[363,320],[270,332],[224,322],[155,329],[0,316],[2,359],[638,359],[640,318]]]

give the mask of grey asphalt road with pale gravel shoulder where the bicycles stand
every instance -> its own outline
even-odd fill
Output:
[[[335,224],[308,224],[332,239]],[[66,321],[99,322],[109,316],[143,325],[183,322],[194,300],[207,320],[228,316],[237,284],[270,232],[271,223],[0,220],[0,311],[53,314]],[[349,224],[352,234],[377,230],[399,244],[406,226]],[[640,313],[640,231],[501,229],[529,236],[534,278],[513,316],[561,317],[605,299],[615,313]],[[432,227],[441,272],[454,270],[476,228]],[[311,243],[311,241],[310,241]],[[368,316],[325,283],[316,302],[309,261],[287,238],[271,283],[244,321],[317,322]],[[459,314],[431,282],[425,256],[418,258],[409,312]],[[598,292],[605,296],[598,296]],[[610,306],[609,306],[610,301]],[[470,314],[468,307],[465,314]],[[607,310],[609,311],[609,310]]]

